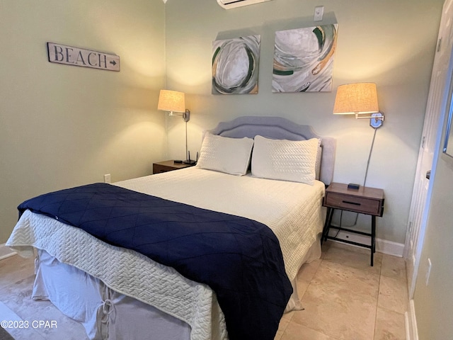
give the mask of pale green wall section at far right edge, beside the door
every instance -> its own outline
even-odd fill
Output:
[[[432,184],[430,213],[413,297],[420,340],[453,339],[452,178],[453,158],[440,153]],[[432,267],[426,285],[428,259]]]

